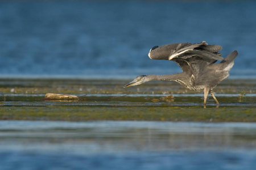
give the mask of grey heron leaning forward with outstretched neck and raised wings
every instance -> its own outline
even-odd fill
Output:
[[[206,104],[209,92],[217,105],[219,105],[220,103],[218,103],[212,89],[229,76],[229,70],[234,65],[234,58],[238,55],[235,50],[224,59],[218,53],[221,49],[222,47],[220,45],[208,45],[205,41],[199,44],[186,42],[154,46],[150,49],[148,57],[151,59],[174,61],[181,67],[183,73],[171,75],[139,75],[123,87],[137,86],[151,80],[175,81],[189,90],[204,89],[204,105]],[[217,60],[222,61],[215,63]]]

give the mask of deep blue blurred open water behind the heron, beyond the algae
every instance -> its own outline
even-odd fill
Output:
[[[155,45],[220,44],[238,50],[230,76],[256,73],[255,1],[3,1],[0,77],[172,74],[147,57]]]

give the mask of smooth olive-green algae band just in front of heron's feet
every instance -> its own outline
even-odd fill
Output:
[[[256,122],[255,107],[81,106],[0,107],[1,120]]]

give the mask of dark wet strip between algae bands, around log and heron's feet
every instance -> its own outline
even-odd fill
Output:
[[[71,94],[76,95],[76,94]],[[201,106],[203,103],[203,94],[172,94],[171,99],[166,99],[167,95],[150,95],[150,94],[86,94],[80,95],[76,100],[48,100],[44,94],[24,95],[8,94],[0,106]],[[221,107],[228,106],[246,106],[254,107],[256,105],[256,94],[247,94],[246,100],[240,101],[237,94],[220,94],[218,100],[222,101]],[[0,100],[1,101],[1,100]],[[216,105],[213,99],[208,99],[208,105]]]

